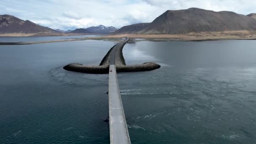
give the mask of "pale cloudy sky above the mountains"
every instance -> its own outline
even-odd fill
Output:
[[[97,25],[123,27],[152,22],[167,10],[203,8],[256,13],[256,0],[0,0],[0,14],[9,14],[52,29]]]

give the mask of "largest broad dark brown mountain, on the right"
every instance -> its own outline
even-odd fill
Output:
[[[127,26],[125,26],[127,27]],[[124,29],[124,27],[120,28]],[[119,29],[119,30],[120,30]],[[231,11],[200,8],[166,11],[136,34],[186,34],[189,32],[256,31],[256,19]],[[128,29],[123,34],[131,33]]]

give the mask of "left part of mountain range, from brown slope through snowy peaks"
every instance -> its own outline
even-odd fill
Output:
[[[86,29],[61,30],[43,27],[29,20],[21,20],[11,15],[0,15],[0,35],[1,34],[27,34],[25,36],[44,36],[44,35],[69,35],[69,34],[107,34],[117,30],[115,27],[105,27],[99,25],[96,27],[88,27]],[[69,34],[64,34],[69,33]],[[21,35],[22,36],[22,35]]]

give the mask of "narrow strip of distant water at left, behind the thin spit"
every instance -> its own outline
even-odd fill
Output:
[[[83,37],[99,37],[100,35],[72,35],[72,36],[54,36],[54,37],[0,37],[0,42],[38,42],[48,40],[64,40]]]

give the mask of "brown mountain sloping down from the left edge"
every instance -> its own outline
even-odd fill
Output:
[[[0,34],[9,33],[39,33],[39,32],[57,32],[48,27],[43,27],[29,20],[21,20],[11,15],[0,15]]]

